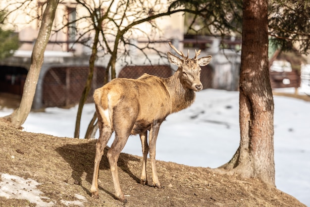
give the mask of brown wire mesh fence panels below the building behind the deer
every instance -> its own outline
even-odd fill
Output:
[[[44,107],[68,107],[78,104],[87,81],[88,67],[51,68],[44,77]],[[125,66],[118,74],[119,78],[137,79],[144,73],[163,78],[171,76],[174,71],[167,65]],[[105,68],[95,67],[92,87],[86,103],[93,102],[95,89],[103,86]],[[212,87],[212,70],[204,66],[201,73],[204,89]]]

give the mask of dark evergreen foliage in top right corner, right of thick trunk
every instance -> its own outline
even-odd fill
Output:
[[[309,0],[269,0],[268,34],[271,44],[281,51],[297,49],[300,53],[309,54],[309,14]]]

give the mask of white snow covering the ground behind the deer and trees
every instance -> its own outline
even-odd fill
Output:
[[[293,89],[284,91],[294,93]],[[310,87],[303,86],[300,91],[310,94]],[[229,161],[236,152],[240,141],[239,92],[207,89],[196,95],[193,105],[169,115],[162,123],[156,159],[215,168]],[[275,96],[274,105],[276,186],[310,206],[310,102]],[[85,105],[81,137],[94,111],[94,104]],[[12,109],[1,109],[0,116],[11,112]],[[31,112],[23,127],[29,132],[72,137],[76,113],[77,106],[70,109],[46,108],[45,112]],[[109,146],[112,141],[113,137]],[[123,152],[141,156],[139,136],[131,136]],[[82,199],[74,205],[80,206],[83,202]],[[73,205],[66,201],[63,204]]]

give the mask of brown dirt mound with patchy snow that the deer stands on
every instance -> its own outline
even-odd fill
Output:
[[[118,166],[128,203],[124,205],[114,199],[105,155],[99,171],[100,198],[92,199],[89,190],[95,144],[96,140],[22,132],[0,122],[0,206],[305,207],[292,196],[259,180],[172,162],[157,161],[158,176],[165,188],[143,186],[138,183],[142,158],[127,154],[120,155]],[[147,167],[148,180],[151,181],[150,162]],[[4,175],[8,181],[4,181]],[[18,188],[21,183],[26,187],[12,192],[10,195],[16,196],[14,199],[7,199],[9,193],[3,191],[10,183],[11,188]],[[37,183],[36,187],[30,189],[34,183]],[[35,191],[39,191],[36,199],[41,203],[30,199],[30,193]],[[22,197],[18,195],[22,194],[28,195],[29,199],[19,199]]]

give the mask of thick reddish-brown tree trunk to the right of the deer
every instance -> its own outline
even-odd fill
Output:
[[[244,0],[240,69],[240,146],[220,168],[275,185],[273,97],[268,69],[267,0]]]

